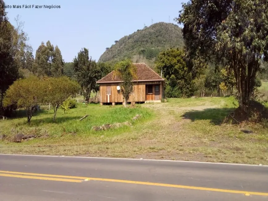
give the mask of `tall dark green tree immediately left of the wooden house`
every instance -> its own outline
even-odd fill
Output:
[[[84,48],[74,58],[75,78],[83,87],[85,101],[89,102],[91,91],[96,92],[97,81],[101,78],[101,72],[95,60],[89,58],[88,49]]]

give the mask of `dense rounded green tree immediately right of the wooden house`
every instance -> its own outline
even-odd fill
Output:
[[[168,85],[176,93],[172,97],[189,97],[194,92],[192,74],[186,66],[184,52],[179,49],[168,49],[159,54],[156,63],[156,71],[162,72]],[[169,88],[170,90],[170,88]]]

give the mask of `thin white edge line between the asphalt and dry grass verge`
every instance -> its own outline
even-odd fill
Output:
[[[268,165],[251,165],[239,163],[214,163],[201,161],[187,161],[187,160],[157,160],[157,159],[136,159],[136,158],[108,158],[108,157],[86,157],[86,156],[47,156],[47,155],[25,155],[25,154],[0,154],[0,156],[39,156],[39,157],[64,157],[64,158],[88,158],[88,159],[113,159],[113,160],[147,160],[147,161],[166,161],[166,162],[183,162],[183,163],[203,163],[203,164],[218,164],[218,165],[246,165],[268,167]]]

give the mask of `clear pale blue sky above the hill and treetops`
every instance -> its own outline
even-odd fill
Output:
[[[4,0],[11,24],[19,15],[28,34],[28,43],[36,49],[42,41],[58,45],[65,62],[71,62],[82,48],[98,61],[106,47],[114,44],[144,24],[157,22],[177,24],[173,19],[181,10],[181,0]],[[186,2],[186,0],[184,0]],[[43,8],[23,8],[23,5]],[[44,8],[44,5],[60,8]],[[169,19],[170,16],[170,19]],[[179,25],[181,27],[181,25]]]

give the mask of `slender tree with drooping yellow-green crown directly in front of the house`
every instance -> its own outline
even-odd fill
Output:
[[[125,59],[121,62],[117,62],[114,66],[113,77],[119,77],[123,81],[120,85],[126,107],[129,96],[133,92],[133,80],[138,80],[137,67],[132,63],[130,59]]]

